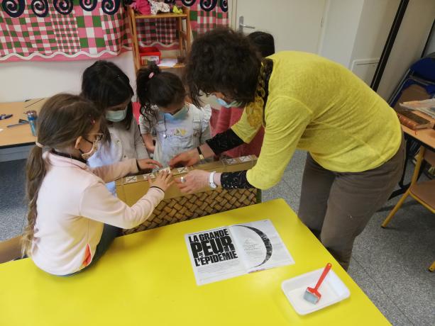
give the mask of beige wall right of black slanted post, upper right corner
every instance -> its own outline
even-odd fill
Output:
[[[378,94],[388,99],[409,66],[419,60],[435,17],[434,0],[409,1]]]

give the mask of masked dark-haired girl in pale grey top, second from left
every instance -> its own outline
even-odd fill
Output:
[[[138,124],[133,117],[133,89],[126,74],[116,64],[99,60],[84,70],[82,96],[92,101],[106,118],[107,137],[97,153],[89,159],[90,167],[121,162],[126,159],[148,159]],[[115,184],[107,188],[116,194]]]

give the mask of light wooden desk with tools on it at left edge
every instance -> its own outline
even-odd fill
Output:
[[[35,110],[39,112],[45,99],[34,99],[27,102],[0,103],[0,114],[13,114],[6,120],[0,120],[0,149],[8,147],[18,147],[32,145],[36,141],[31,133],[31,127],[28,123],[17,125],[16,127],[7,128],[7,125],[18,123],[19,119],[26,119],[25,111]]]

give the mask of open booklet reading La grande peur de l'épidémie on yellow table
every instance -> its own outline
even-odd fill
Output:
[[[185,235],[197,285],[294,264],[270,220]]]

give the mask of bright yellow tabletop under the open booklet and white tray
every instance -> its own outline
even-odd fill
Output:
[[[197,286],[184,235],[269,218],[294,265]],[[351,296],[300,316],[285,279],[327,262]],[[282,199],[119,237],[88,271],[50,276],[30,259],[0,265],[0,325],[390,325]]]

